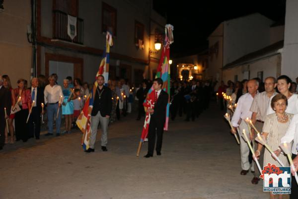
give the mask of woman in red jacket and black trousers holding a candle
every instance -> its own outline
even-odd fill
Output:
[[[18,102],[21,110],[15,113],[15,137],[16,141],[20,139],[27,142],[29,137],[29,129],[26,120],[31,109],[31,93],[24,88],[25,80],[19,79],[17,81],[18,88],[14,89],[14,96],[16,99],[21,97]]]

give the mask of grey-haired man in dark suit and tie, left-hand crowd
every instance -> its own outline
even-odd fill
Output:
[[[45,104],[44,91],[38,87],[38,79],[31,80],[31,99],[34,100],[34,105],[29,118],[29,138],[34,137],[39,140],[40,135],[40,115],[44,114],[41,103]],[[35,126],[35,127],[34,127]]]

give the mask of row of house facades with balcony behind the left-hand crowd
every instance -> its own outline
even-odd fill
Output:
[[[0,20],[11,29],[2,33],[4,41],[0,49],[9,45],[11,50],[1,56],[5,65],[13,65],[22,73],[13,73],[13,67],[0,73],[11,74],[13,80],[21,77],[28,80],[33,70],[36,75],[57,73],[59,84],[67,76],[92,83],[104,52],[106,31],[110,31],[114,45],[110,49],[109,78],[136,83],[144,78],[152,79],[161,55],[154,49],[154,43],[162,43],[166,23],[166,19],[152,9],[152,0],[35,0],[36,56],[31,53],[32,45],[26,38],[27,25],[31,23],[30,2],[23,0],[24,5],[19,6],[18,0],[4,1],[0,15],[6,18],[0,17]],[[18,10],[18,7],[26,10]],[[17,24],[7,22],[13,17],[19,17],[20,20],[9,19],[17,20]],[[76,20],[75,29],[68,29],[69,18]],[[11,34],[13,29],[18,31]],[[75,34],[73,39],[68,31]],[[25,47],[26,52],[18,53],[20,63],[13,63],[17,61],[9,51],[16,48],[25,51]],[[36,61],[35,68],[31,60]],[[25,66],[19,69],[21,63]]]

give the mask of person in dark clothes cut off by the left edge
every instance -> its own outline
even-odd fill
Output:
[[[9,115],[11,108],[11,92],[4,88],[3,79],[2,76],[0,76],[0,150],[3,149],[5,141],[5,119],[8,119],[8,116],[5,117],[4,108],[6,108],[6,114]]]

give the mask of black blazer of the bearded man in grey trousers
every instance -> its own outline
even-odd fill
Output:
[[[102,92],[102,93],[101,93]],[[99,94],[101,94],[99,99]],[[101,116],[105,117],[106,115],[111,116],[112,111],[112,91],[110,88],[103,86],[102,90],[95,90],[95,97],[93,102],[93,108],[91,116],[95,116],[97,112],[100,111]]]

